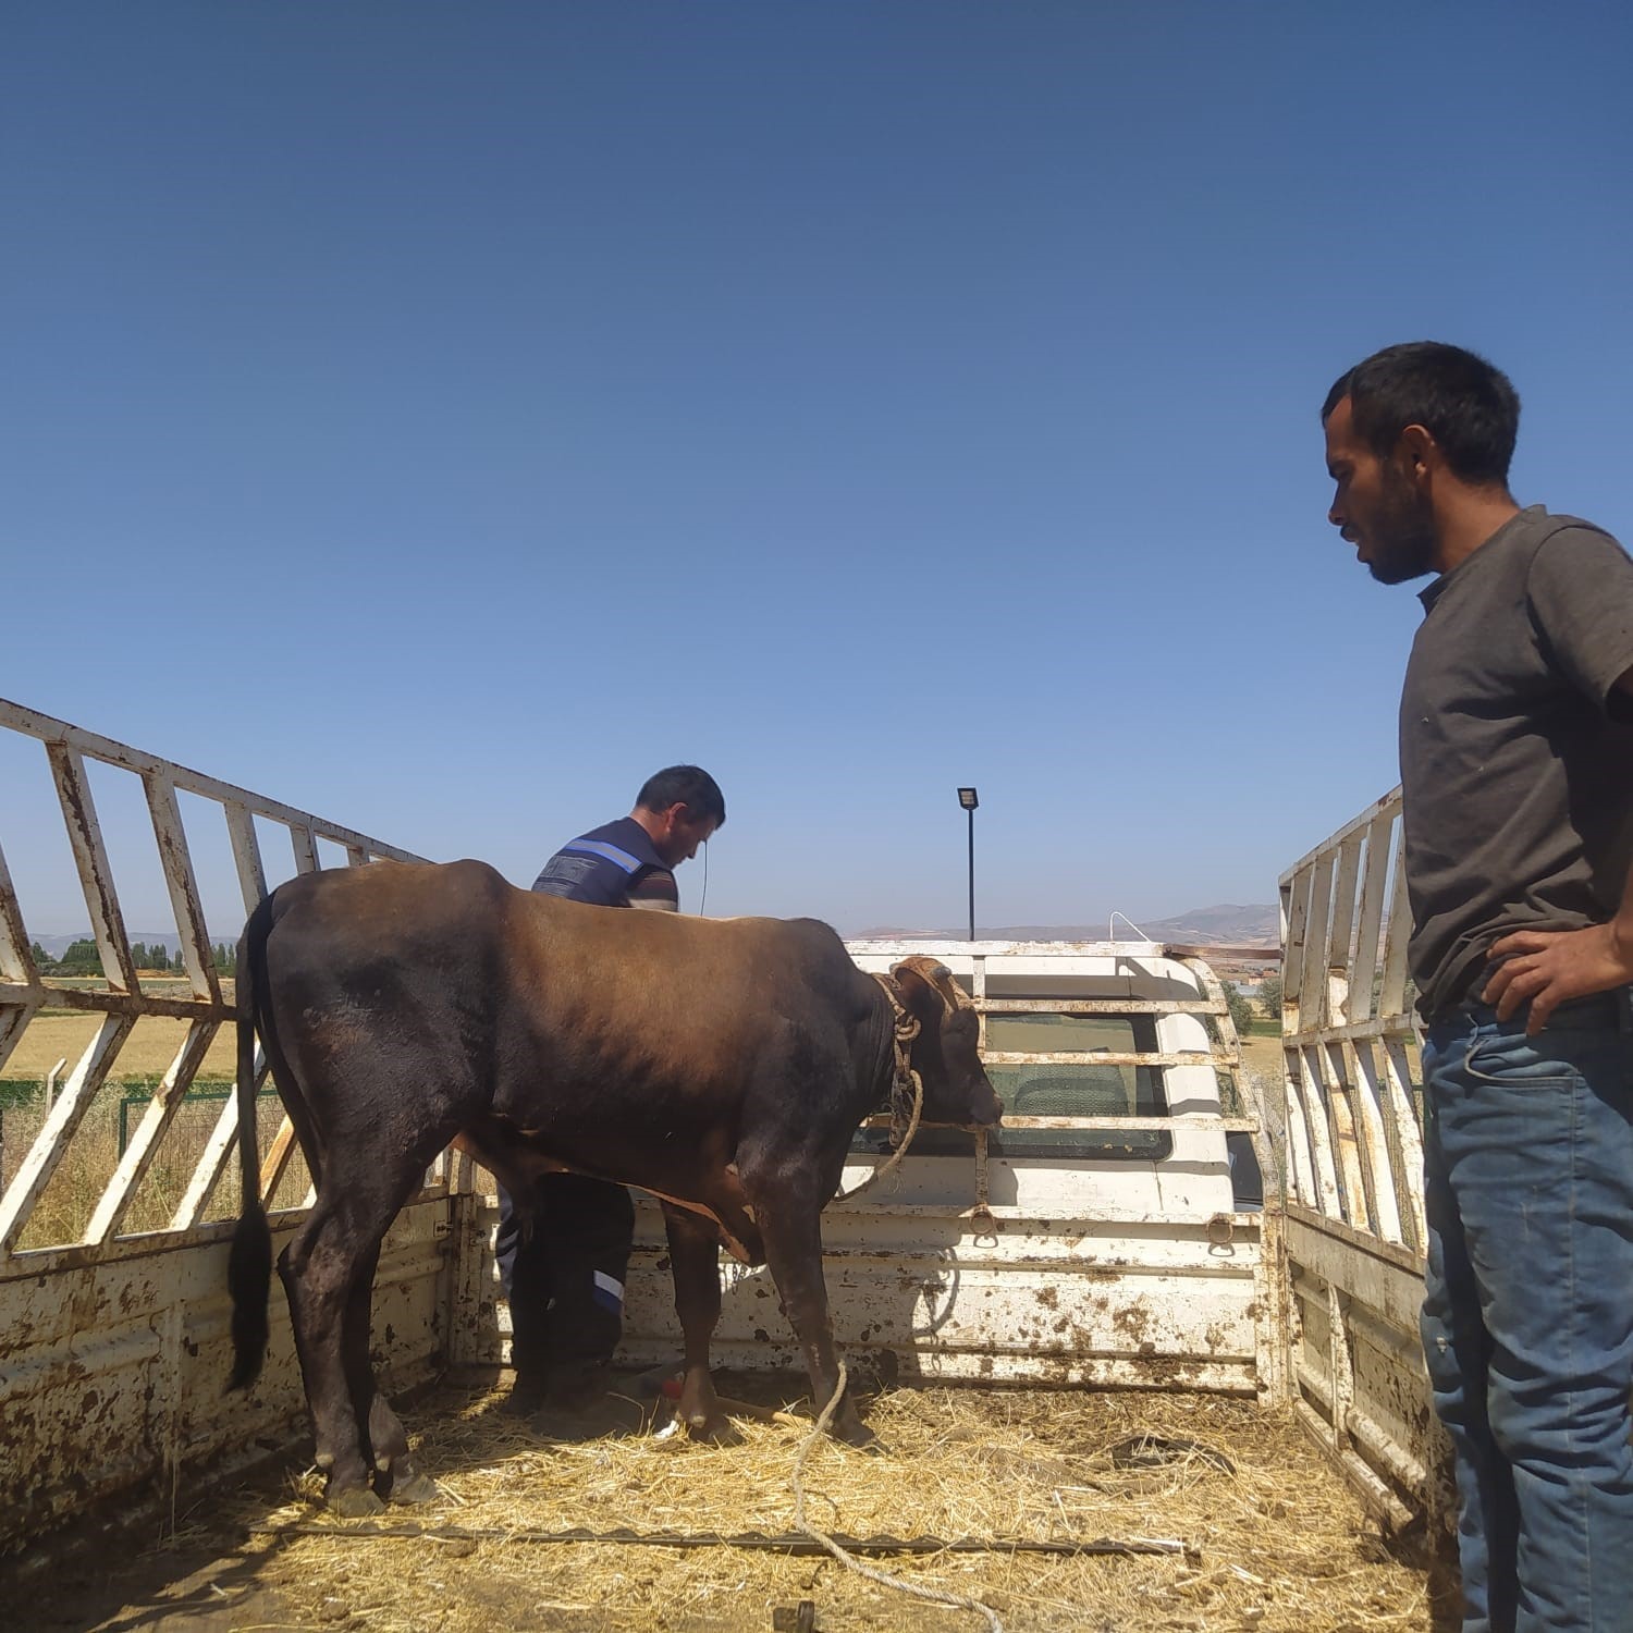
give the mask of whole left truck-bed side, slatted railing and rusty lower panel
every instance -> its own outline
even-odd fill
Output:
[[[318,841],[349,865],[374,857],[416,861],[309,812],[263,799],[96,736],[65,720],[0,701],[0,732],[33,738],[44,750],[44,776],[57,795],[69,854],[85,897],[105,985],[87,988],[42,975],[18,901],[16,880],[0,854],[0,1066],[47,1009],[80,1012],[95,1032],[60,1086],[54,1073],[29,1109],[28,1150],[5,1151],[10,1182],[0,1195],[0,1546],[47,1528],[103,1499],[157,1497],[171,1509],[186,1481],[206,1468],[265,1455],[289,1439],[304,1416],[304,1393],[283,1288],[273,1285],[271,1350],[261,1380],[222,1395],[232,1368],[227,1243],[232,1223],[204,1220],[217,1181],[237,1146],[237,1102],[229,1097],[214,1133],[194,1156],[180,1155],[176,1117],[211,1039],[232,1027],[230,993],[211,957],[186,813],[214,808],[227,834],[245,908],[266,893],[256,821],[284,828],[297,870],[318,862]],[[158,865],[176,921],[185,991],[145,991],[126,934],[119,880],[109,861],[91,792],[88,763],[139,781]],[[0,813],[3,815],[3,813]],[[3,841],[3,834],[0,834]],[[119,1053],[144,1017],[188,1022],[186,1034],[122,1156],[87,1140],[98,1091],[118,1079]],[[261,1068],[265,1071],[265,1068]],[[287,1128],[287,1122],[284,1125]],[[278,1141],[274,1140],[274,1148]],[[287,1148],[287,1138],[283,1148]],[[0,1146],[3,1150],[3,1146]],[[144,1179],[158,1158],[191,1172],[162,1228],[132,1230]],[[64,1164],[72,1159],[72,1169]],[[281,1166],[281,1164],[279,1164]],[[385,1239],[374,1293],[376,1362],[389,1386],[431,1375],[447,1346],[444,1236],[449,1210],[446,1164],[398,1217]],[[56,1174],[75,1177],[73,1208],[42,1223],[39,1207]],[[276,1174],[263,1174],[271,1197]],[[82,1194],[80,1181],[91,1190]],[[152,1215],[152,1208],[145,1208]],[[273,1213],[281,1244],[304,1210]],[[41,1246],[21,1246],[29,1226]]]

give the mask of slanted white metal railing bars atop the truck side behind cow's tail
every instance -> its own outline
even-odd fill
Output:
[[[266,895],[266,865],[256,821],[287,831],[296,872],[315,872],[320,867],[320,841],[343,849],[346,864],[353,867],[376,857],[398,861],[418,861],[418,857],[351,828],[325,821],[310,812],[206,777],[3,699],[0,699],[0,732],[34,738],[44,750],[105,977],[105,988],[93,990],[41,973],[31,950],[23,906],[7,867],[5,834],[0,831],[0,1070],[42,1011],[77,1011],[96,1019],[95,1034],[60,1088],[54,1086],[41,1127],[11,1174],[5,1194],[0,1195],[0,1274],[20,1272],[24,1262],[26,1270],[34,1274],[65,1262],[90,1262],[109,1251],[121,1235],[144,1177],[165,1150],[167,1135],[211,1042],[217,1030],[234,1019],[230,996],[222,990],[222,978],[211,954],[188,823],[178,794],[193,795],[204,802],[206,808],[214,807],[220,813],[245,911]],[[188,986],[185,994],[144,991],[142,977],[131,954],[119,882],[96,815],[87,761],[113,768],[140,784],[175,914]],[[0,802],[0,823],[5,816],[7,807]],[[186,1034],[180,1048],[111,1172],[105,1181],[95,1176],[100,1194],[88,1208],[85,1223],[72,1230],[65,1241],[24,1249],[20,1244],[41,1197],[73,1148],[98,1091],[116,1068],[121,1048],[144,1017],[185,1021]],[[265,1075],[265,1065],[260,1060],[256,1065],[258,1073]],[[170,1212],[160,1235],[183,1236],[194,1231],[206,1218],[227,1158],[237,1143],[237,1099],[227,1096],[202,1153],[191,1163],[180,1202]],[[294,1137],[286,1120],[263,1163],[263,1197],[271,1197],[278,1189],[292,1155]]]

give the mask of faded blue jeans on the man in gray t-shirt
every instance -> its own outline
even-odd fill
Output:
[[[1422,1337],[1465,1633],[1633,1628],[1633,988],[1424,1040]]]

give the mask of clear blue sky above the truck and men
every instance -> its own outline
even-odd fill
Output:
[[[0,694],[433,857],[526,883],[694,759],[710,913],[960,923],[960,782],[983,923],[1269,901],[1395,782],[1417,617],[1326,524],[1334,376],[1484,351],[1522,503],[1633,537],[1625,7],[5,36]]]

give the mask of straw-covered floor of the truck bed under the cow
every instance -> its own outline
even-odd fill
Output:
[[[782,1401],[771,1380],[741,1395]],[[423,1507],[341,1525],[315,1476],[281,1475],[178,1512],[175,1530],[64,1561],[0,1561],[10,1628],[39,1633],[820,1633],[988,1628],[1091,1633],[1429,1633],[1426,1563],[1388,1540],[1315,1445],[1253,1403],[1133,1393],[892,1391],[867,1455],[818,1442],[807,1515],[851,1537],[972,1540],[867,1556],[985,1604],[905,1597],[836,1560],[653,1538],[794,1535],[808,1417],[740,1419],[735,1444],[683,1434],[570,1445],[443,1388],[405,1413],[439,1486]],[[661,1416],[660,1416],[661,1422]],[[1130,1445],[1135,1452],[1130,1453]],[[371,1535],[371,1527],[408,1535]],[[581,1527],[645,1540],[563,1542]],[[1166,1551],[1091,1555],[1109,1538]],[[1061,1551],[1026,1551],[1024,1545]]]

